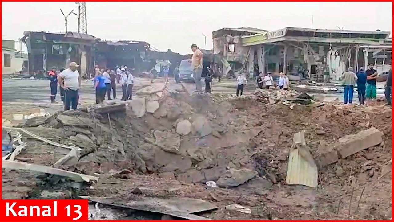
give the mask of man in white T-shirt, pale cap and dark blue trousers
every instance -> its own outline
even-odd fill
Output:
[[[76,109],[79,100],[79,88],[81,87],[81,76],[79,75],[79,67],[76,62],[71,62],[69,68],[59,74],[58,81],[60,87],[65,90],[64,110]]]

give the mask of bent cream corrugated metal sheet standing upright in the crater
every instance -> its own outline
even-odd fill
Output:
[[[286,183],[316,187],[318,185],[318,167],[306,146],[304,134],[304,131],[294,134],[287,166]]]

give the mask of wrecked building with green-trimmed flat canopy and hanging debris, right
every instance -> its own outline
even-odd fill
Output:
[[[389,64],[389,35],[390,32],[379,30],[287,27],[240,38],[229,38],[224,34],[224,47],[223,43],[215,41],[218,36],[214,36],[214,49],[223,47],[221,50],[227,55],[223,58],[229,63],[238,58],[241,68],[237,70],[237,67],[232,67],[233,71],[244,71],[249,75],[256,75],[258,71],[274,75],[284,72],[292,80],[305,77],[318,82],[329,82],[331,79],[338,79],[349,66],[358,69],[371,62],[377,65]]]

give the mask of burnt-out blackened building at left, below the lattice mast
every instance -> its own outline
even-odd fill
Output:
[[[52,67],[66,68],[71,61],[80,64],[79,72],[87,75],[94,68],[94,36],[76,32],[24,32],[21,39],[28,49],[28,71],[43,75]]]

